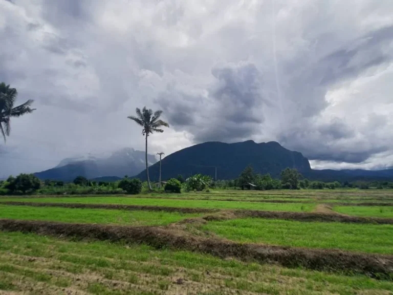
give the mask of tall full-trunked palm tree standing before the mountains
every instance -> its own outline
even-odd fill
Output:
[[[145,161],[146,161],[146,175],[147,175],[147,184],[149,186],[149,190],[151,191],[150,179],[149,179],[149,170],[147,164],[147,137],[149,134],[153,132],[163,133],[164,130],[160,129],[160,127],[165,126],[169,127],[167,122],[160,120],[160,116],[162,111],[156,111],[153,114],[151,109],[146,109],[143,107],[142,112],[139,108],[136,109],[137,116],[128,116],[128,119],[135,121],[138,125],[142,126],[142,135],[146,138],[146,151],[145,151]]]

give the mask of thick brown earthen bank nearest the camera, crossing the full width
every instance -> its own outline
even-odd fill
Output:
[[[197,237],[181,230],[152,226],[131,227],[0,219],[0,230],[113,242],[146,243],[156,248],[170,247],[198,251],[221,258],[277,263],[286,267],[356,272],[377,279],[393,280],[393,256],[391,255],[241,244],[222,239]]]

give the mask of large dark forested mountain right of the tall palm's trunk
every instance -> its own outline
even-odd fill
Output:
[[[282,147],[278,142],[255,143],[252,140],[237,143],[205,142],[180,150],[162,159],[162,179],[188,177],[202,173],[217,179],[233,179],[239,176],[247,165],[255,173],[270,173],[278,178],[286,167],[296,168],[300,173],[311,173],[309,160],[299,152]],[[153,181],[159,178],[159,162],[149,167]],[[136,177],[145,180],[146,171]]]

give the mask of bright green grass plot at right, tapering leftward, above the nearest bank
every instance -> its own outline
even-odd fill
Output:
[[[393,253],[393,225],[246,218],[212,221],[202,229],[239,242]]]

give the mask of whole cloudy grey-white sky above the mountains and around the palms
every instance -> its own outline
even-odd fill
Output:
[[[277,141],[314,168],[393,166],[391,0],[0,0],[0,81],[34,99],[0,178],[133,147]]]

